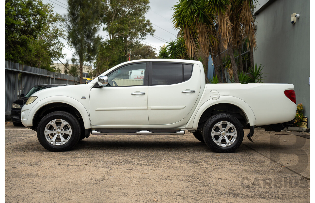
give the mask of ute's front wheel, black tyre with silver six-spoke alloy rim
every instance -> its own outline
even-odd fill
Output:
[[[47,114],[39,122],[37,138],[39,143],[49,151],[66,151],[80,139],[81,127],[72,114],[55,111]]]

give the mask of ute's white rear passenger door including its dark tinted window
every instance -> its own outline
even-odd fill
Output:
[[[184,119],[198,99],[200,86],[200,69],[193,64],[150,62],[149,124],[171,124]]]

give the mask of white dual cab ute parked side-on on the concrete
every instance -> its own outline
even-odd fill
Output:
[[[281,131],[294,122],[292,84],[206,84],[199,61],[142,59],[119,64],[88,84],[34,93],[21,110],[50,151],[107,134],[191,132],[215,152],[232,152],[255,127]]]

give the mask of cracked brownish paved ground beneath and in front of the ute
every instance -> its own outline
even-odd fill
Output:
[[[219,154],[187,132],[91,135],[50,152],[6,124],[6,202],[309,202],[310,140],[257,129],[253,140]]]

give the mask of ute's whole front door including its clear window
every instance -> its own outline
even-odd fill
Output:
[[[107,74],[108,86],[91,89],[92,126],[149,124],[146,70],[146,62],[119,67]]]

